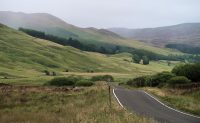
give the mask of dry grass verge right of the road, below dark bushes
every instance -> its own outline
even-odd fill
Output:
[[[171,107],[200,116],[200,90],[145,88]]]

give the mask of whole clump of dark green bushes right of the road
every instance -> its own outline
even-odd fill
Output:
[[[200,82],[200,63],[178,65],[172,72],[161,72],[151,76],[141,76],[127,81],[135,87],[163,87]]]

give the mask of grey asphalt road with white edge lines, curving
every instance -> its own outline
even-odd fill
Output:
[[[116,87],[113,90],[121,106],[136,114],[154,118],[161,123],[200,123],[200,118],[171,109],[142,90]]]

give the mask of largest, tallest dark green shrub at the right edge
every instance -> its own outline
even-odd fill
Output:
[[[185,76],[193,82],[200,82],[200,63],[179,65],[172,69],[177,76]]]

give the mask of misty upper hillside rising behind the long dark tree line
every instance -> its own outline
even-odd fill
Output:
[[[97,46],[121,45],[137,49],[145,49],[164,55],[180,54],[178,51],[154,47],[132,39],[125,39],[105,29],[76,27],[46,13],[26,14],[1,11],[0,23],[15,29],[24,27],[45,31],[48,34],[60,37],[73,37],[81,42],[95,44]]]

